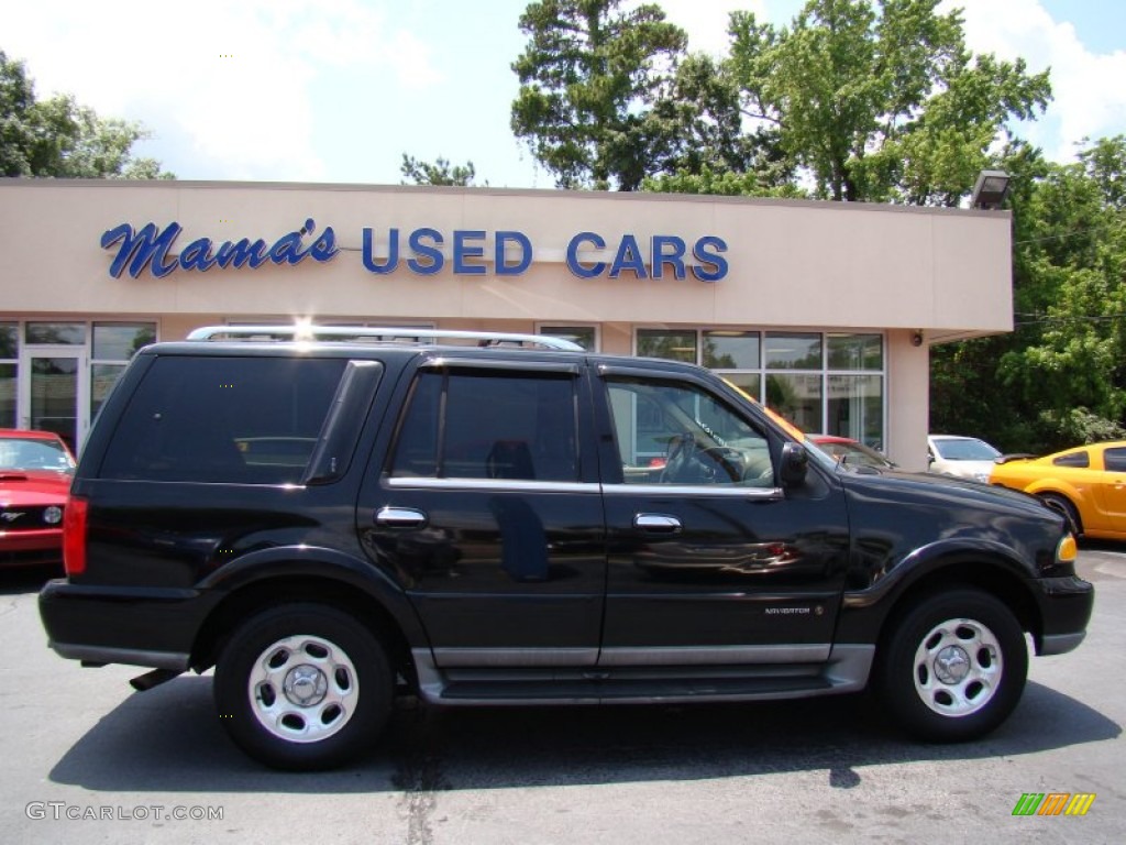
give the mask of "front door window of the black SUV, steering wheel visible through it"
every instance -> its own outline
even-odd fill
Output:
[[[689,383],[607,382],[626,483],[774,487],[766,437]]]

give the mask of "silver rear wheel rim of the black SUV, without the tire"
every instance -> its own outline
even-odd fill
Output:
[[[318,742],[340,731],[355,714],[359,679],[334,642],[295,634],[262,650],[247,692],[254,718],[272,736]]]

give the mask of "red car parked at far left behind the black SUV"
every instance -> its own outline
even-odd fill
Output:
[[[0,567],[62,563],[73,474],[59,435],[0,428]]]

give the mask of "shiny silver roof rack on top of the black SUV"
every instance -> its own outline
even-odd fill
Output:
[[[583,352],[571,340],[551,335],[519,335],[503,331],[456,331],[453,329],[419,329],[405,326],[204,326],[188,335],[188,340],[413,340],[417,344],[435,340],[476,340],[477,346],[540,346],[564,352]]]

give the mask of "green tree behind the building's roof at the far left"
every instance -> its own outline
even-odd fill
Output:
[[[99,118],[69,95],[37,99],[24,63],[0,51],[0,175],[172,178],[155,160],[133,157],[146,137],[141,124]]]

